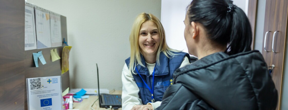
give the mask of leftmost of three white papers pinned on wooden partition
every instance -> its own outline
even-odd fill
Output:
[[[24,50],[37,49],[34,5],[25,2],[25,46]]]

